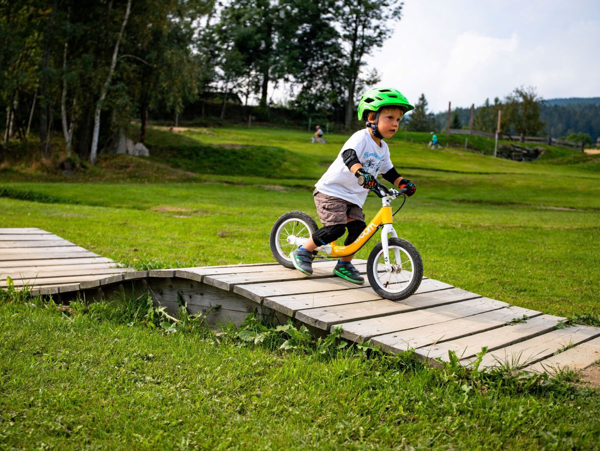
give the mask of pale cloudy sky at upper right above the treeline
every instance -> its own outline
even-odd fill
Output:
[[[368,58],[380,85],[435,112],[535,86],[544,98],[600,96],[599,0],[405,0]]]

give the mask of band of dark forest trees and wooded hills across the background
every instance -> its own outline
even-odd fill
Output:
[[[402,8],[398,0],[3,1],[3,141],[32,133],[48,156],[50,136],[61,133],[67,156],[95,163],[132,120],[142,143],[150,118],[350,129],[360,93],[379,82],[365,57],[391,37]],[[288,91],[285,103],[272,102],[275,89]],[[501,108],[506,132],[592,144],[600,105],[589,100],[545,103],[521,86],[478,107],[475,125],[492,131]],[[416,106],[407,129],[445,127],[424,94]],[[468,123],[466,112],[454,111],[453,127]]]

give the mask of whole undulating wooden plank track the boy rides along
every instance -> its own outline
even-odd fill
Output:
[[[25,235],[37,238],[28,240]],[[149,290],[154,301],[171,312],[183,303],[190,313],[219,306],[209,314],[209,324],[240,322],[248,313],[256,312],[275,322],[293,318],[317,334],[341,325],[346,339],[370,341],[388,353],[414,350],[433,365],[448,360],[449,351],[454,351],[463,365],[469,365],[482,347],[488,348],[482,367],[508,364],[511,368],[553,372],[564,366],[583,369],[600,360],[600,328],[567,326],[562,322],[565,318],[511,306],[439,280],[425,278],[414,295],[395,302],[380,298],[368,282],[355,285],[333,276],[335,262],[331,261],[316,262],[310,277],[275,263],[151,271],[116,268],[110,273],[100,271],[112,269],[114,262],[40,229],[0,229],[0,237],[4,237],[0,243],[19,244],[0,244],[2,286],[6,274],[22,271],[23,277],[15,280],[23,284],[35,273],[37,279],[29,279],[35,285],[34,294],[54,295],[62,301],[76,295],[98,299],[115,290]],[[59,246],[58,251],[47,250],[56,246],[46,246],[43,240],[68,244]],[[37,241],[38,247],[23,246],[25,241]],[[29,258],[17,259],[17,255]],[[35,255],[45,257],[35,259]],[[365,263],[355,261],[362,273]],[[108,266],[88,269],[90,264]],[[44,272],[46,267],[53,269]],[[10,268],[18,270],[10,272]],[[98,272],[89,273],[92,269]]]

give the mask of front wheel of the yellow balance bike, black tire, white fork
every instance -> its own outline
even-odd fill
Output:
[[[407,274],[395,276],[394,282],[394,280],[392,280],[392,273],[389,273],[388,280],[385,280],[387,277],[386,274],[388,273],[382,273],[382,268],[380,267],[380,265],[383,265],[383,246],[381,243],[377,243],[377,246],[373,247],[373,250],[371,250],[371,253],[369,254],[369,259],[367,261],[367,277],[371,284],[371,288],[373,288],[381,297],[392,301],[401,301],[412,295],[416,289],[419,288],[419,285],[421,285],[421,280],[423,279],[423,260],[421,259],[419,251],[416,250],[416,247],[409,243],[409,241],[401,238],[389,238],[388,244],[390,260],[397,264],[397,262],[395,262],[394,249],[398,249],[401,257],[400,264],[403,270],[408,267],[406,272],[410,272],[410,276],[408,280],[406,280],[406,286],[404,286],[403,280],[400,279],[406,277]],[[409,258],[406,258],[406,261],[404,261],[402,256]],[[379,264],[377,264],[378,262]],[[400,279],[398,279],[398,277],[400,277]],[[390,282],[393,285],[386,286],[386,283],[389,284]]]

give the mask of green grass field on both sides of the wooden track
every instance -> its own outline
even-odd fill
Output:
[[[308,138],[155,127],[149,159],[103,157],[67,183],[4,163],[0,227],[40,227],[138,268],[271,261],[272,223],[288,210],[316,216],[311,189],[347,137]],[[598,159],[548,148],[518,163],[429,150],[426,139],[390,142],[417,186],[397,230],[425,274],[599,324]],[[368,199],[365,213],[377,208]],[[164,336],[147,319],[92,313],[2,304],[0,447],[599,445],[597,390],[502,384],[345,348],[323,357],[201,331]]]

